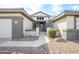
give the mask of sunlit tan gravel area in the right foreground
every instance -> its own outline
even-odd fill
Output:
[[[67,41],[67,42],[54,42],[51,40],[48,43],[49,53],[79,53],[79,43]]]

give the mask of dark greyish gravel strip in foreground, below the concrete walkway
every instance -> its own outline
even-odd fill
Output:
[[[12,54],[13,52],[16,54],[49,54],[47,44],[39,47],[0,47],[0,54]]]

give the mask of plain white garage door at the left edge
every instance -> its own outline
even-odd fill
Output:
[[[12,37],[11,19],[0,19],[0,38]]]

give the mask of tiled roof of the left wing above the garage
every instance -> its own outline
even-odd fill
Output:
[[[24,8],[0,8],[0,13],[22,13],[28,19],[34,21]]]

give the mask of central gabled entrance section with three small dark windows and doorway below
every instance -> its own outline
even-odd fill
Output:
[[[48,15],[42,11],[36,12],[36,13],[32,14],[31,16],[35,21],[35,25],[34,25],[35,28],[37,25],[39,27],[40,32],[46,31],[46,28],[49,25],[52,26],[52,24],[49,23],[50,15]]]

